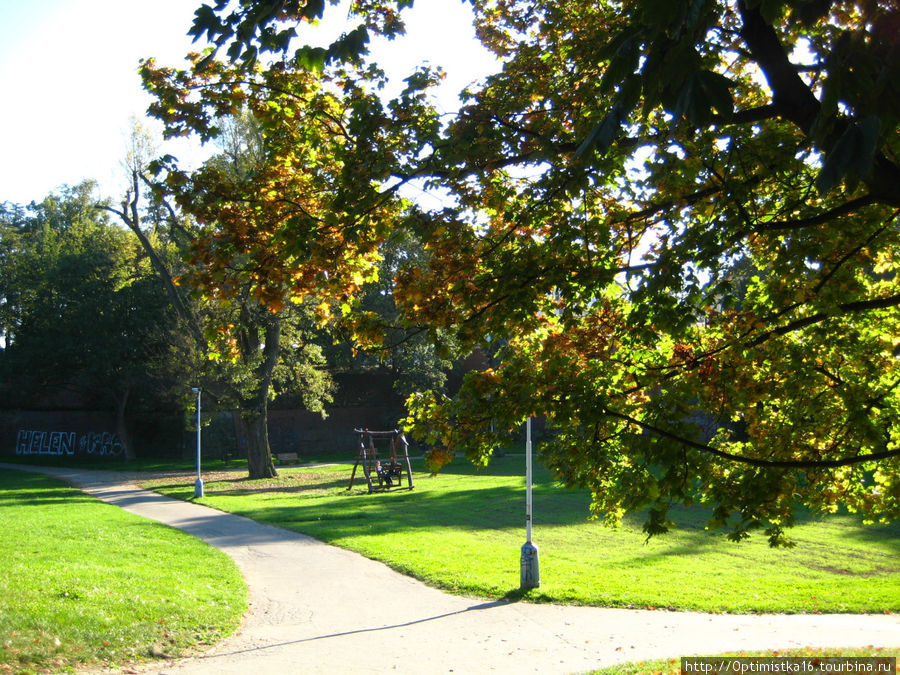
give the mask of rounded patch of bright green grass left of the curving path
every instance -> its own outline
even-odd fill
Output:
[[[202,648],[247,605],[234,562],[46,476],[0,472],[0,672]]]

